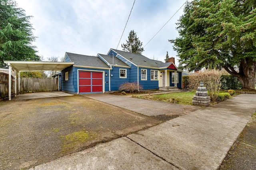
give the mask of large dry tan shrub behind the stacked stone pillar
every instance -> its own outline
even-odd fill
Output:
[[[221,86],[220,76],[221,72],[218,70],[204,70],[204,72],[190,75],[189,86],[192,89],[196,89],[201,81],[204,82],[204,86],[206,86],[206,89],[208,90],[211,102],[215,102]]]

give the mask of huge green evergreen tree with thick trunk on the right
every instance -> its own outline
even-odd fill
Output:
[[[224,68],[255,89],[256,0],[194,0],[184,8],[179,37],[169,40],[181,68]],[[237,69],[236,69],[237,68]]]

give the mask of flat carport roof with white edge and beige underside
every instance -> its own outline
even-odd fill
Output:
[[[74,62],[50,62],[50,61],[4,61],[17,71],[61,71],[72,66]]]

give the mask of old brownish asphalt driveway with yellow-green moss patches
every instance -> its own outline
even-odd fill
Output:
[[[0,103],[0,169],[29,168],[161,121],[83,96]]]

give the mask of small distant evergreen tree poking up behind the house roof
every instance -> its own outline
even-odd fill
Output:
[[[144,51],[142,43],[140,42],[134,30],[130,31],[128,40],[126,40],[126,44],[122,44],[121,46],[124,51],[130,53],[141,54]]]

